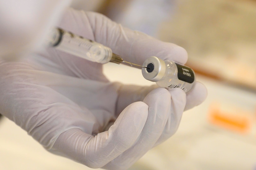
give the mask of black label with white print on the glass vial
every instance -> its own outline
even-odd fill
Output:
[[[193,83],[195,75],[191,68],[175,63],[178,68],[178,79],[187,83]]]

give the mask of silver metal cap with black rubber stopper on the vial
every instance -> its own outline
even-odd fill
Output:
[[[164,77],[164,60],[152,56],[146,59],[142,66],[147,67],[142,68],[142,75],[145,79],[150,80],[152,82],[157,82]]]

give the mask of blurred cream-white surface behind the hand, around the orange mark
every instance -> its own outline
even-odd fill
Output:
[[[112,81],[149,85],[141,70],[128,66],[106,64],[104,71]],[[122,73],[122,77],[120,77]],[[150,150],[130,170],[148,169],[253,169],[256,168],[256,140],[232,134],[208,125],[209,104],[240,103],[251,109],[256,106],[256,94],[231,88],[211,79],[198,77],[209,91],[207,100],[183,114],[177,133],[163,144]],[[241,102],[244,101],[242,104]],[[251,107],[252,106],[252,107]],[[84,165],[53,155],[13,122],[0,121],[1,170],[86,170]]]

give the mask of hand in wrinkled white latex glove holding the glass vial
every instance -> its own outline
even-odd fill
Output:
[[[110,47],[124,60],[142,64],[157,56],[184,64],[186,51],[105,16],[67,10],[59,27]],[[48,151],[91,168],[126,169],[177,130],[184,108],[203,102],[196,83],[181,89],[111,83],[102,65],[55,49],[20,62],[0,63],[0,113]]]

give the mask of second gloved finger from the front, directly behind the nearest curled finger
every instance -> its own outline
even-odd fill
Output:
[[[148,108],[148,117],[137,142],[116,159],[104,166],[107,169],[126,169],[140,159],[161,136],[171,108],[171,94],[164,88],[151,91],[143,100]]]

